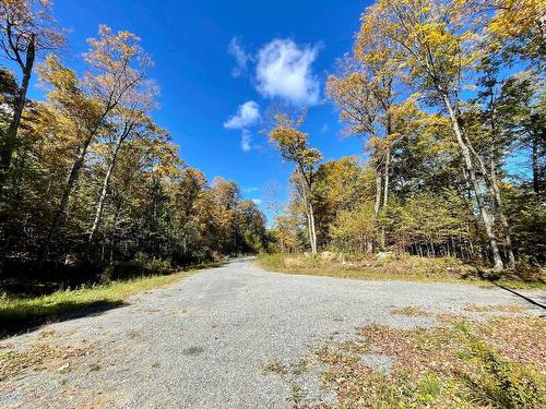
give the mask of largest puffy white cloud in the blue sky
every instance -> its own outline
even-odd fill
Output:
[[[274,39],[258,52],[257,89],[264,97],[278,97],[295,105],[316,105],[319,81],[311,64],[317,46],[299,48],[290,39]]]

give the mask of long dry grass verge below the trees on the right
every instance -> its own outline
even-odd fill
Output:
[[[410,280],[471,282],[490,286],[491,282],[511,288],[538,288],[546,290],[544,277],[531,280],[511,277],[510,279],[488,280],[483,270],[452,257],[426,258],[418,256],[393,256],[387,260],[359,257],[349,261],[312,258],[304,254],[261,254],[261,267],[270,272],[306,274],[367,280]]]

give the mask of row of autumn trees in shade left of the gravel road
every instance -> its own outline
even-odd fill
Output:
[[[180,265],[263,246],[254,203],[234,182],[210,184],[154,122],[158,87],[139,37],[100,26],[78,73],[59,57],[66,40],[49,2],[1,1],[0,33],[14,68],[0,70],[4,275],[135,258]],[[27,98],[34,75],[45,100]]]

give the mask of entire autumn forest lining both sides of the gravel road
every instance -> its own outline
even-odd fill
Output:
[[[367,8],[324,89],[363,152],[324,161],[305,132],[307,109],[272,105],[264,131],[294,173],[287,204],[266,188],[266,231],[235,182],[209,182],[154,122],[159,88],[136,34],[99,26],[76,72],[49,1],[2,0],[1,274],[83,282],[107,266],[168,269],[261,251],[536,270],[546,262],[542,8]],[[28,98],[33,79],[41,100]]]

